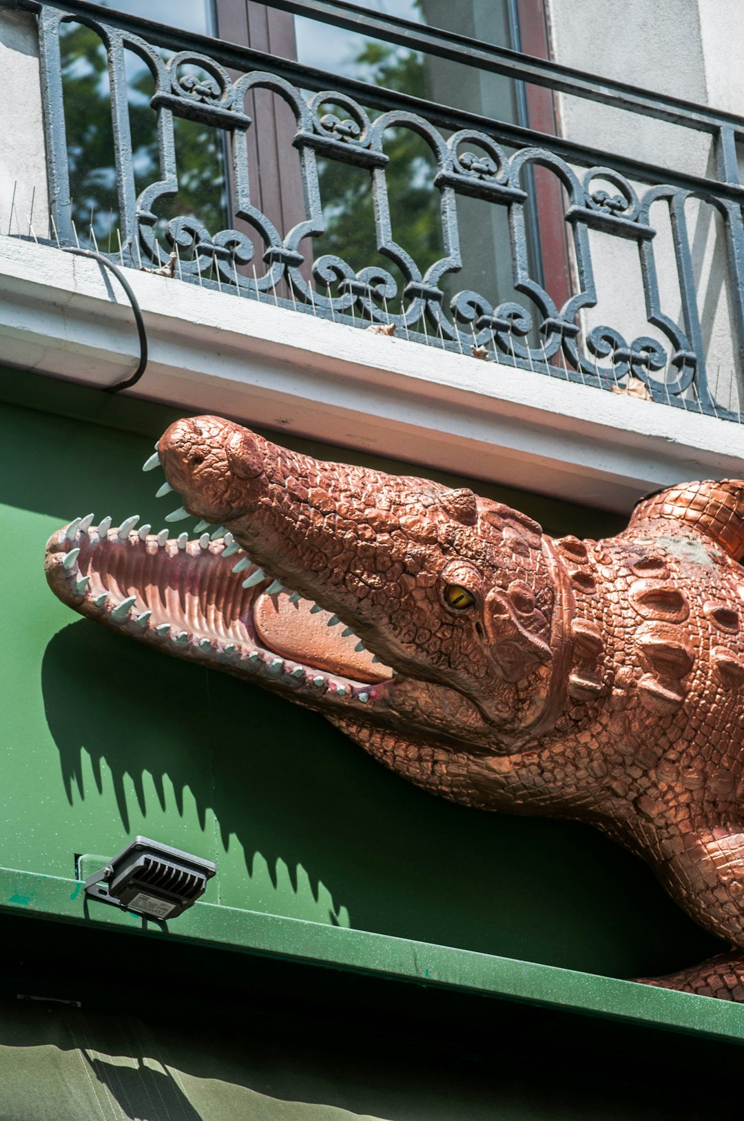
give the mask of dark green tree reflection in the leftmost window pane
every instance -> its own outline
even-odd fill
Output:
[[[87,242],[91,215],[100,248],[115,251],[119,225],[111,94],[106,54],[94,31],[64,24],[61,35],[65,123],[73,219]],[[165,54],[165,52],[164,52]],[[157,114],[150,109],[155,81],[127,53],[129,123],[136,191],[160,178]],[[227,224],[223,136],[197,121],[174,118],[178,194],[157,204],[159,229],[176,215],[199,217],[212,233]],[[109,239],[111,238],[111,243]]]

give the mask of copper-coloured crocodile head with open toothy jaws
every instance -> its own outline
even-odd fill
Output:
[[[189,540],[72,522],[50,538],[46,568],[75,610],[347,730],[509,753],[550,721],[560,582],[531,519],[469,490],[320,462],[217,417],[171,425],[158,462],[161,489],[183,502],[166,520],[220,529]]]

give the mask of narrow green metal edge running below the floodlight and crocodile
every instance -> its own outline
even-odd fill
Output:
[[[196,904],[177,932],[95,901],[78,880],[0,868],[0,911],[186,939],[372,976],[455,989],[669,1028],[712,1039],[744,1040],[744,1006],[654,989],[616,978],[495,957],[346,927]]]

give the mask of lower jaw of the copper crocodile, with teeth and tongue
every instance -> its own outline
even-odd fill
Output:
[[[336,617],[298,593],[279,591],[231,535],[189,540],[186,534],[149,534],[149,527],[138,531],[128,522],[91,522],[75,519],[46,547],[52,590],[81,614],[318,707],[387,705],[394,671],[360,650],[359,638]],[[233,572],[238,563],[240,574]],[[243,586],[247,578],[252,586]],[[287,656],[297,632],[309,639],[314,660]],[[278,636],[280,649],[271,649],[267,634]]]

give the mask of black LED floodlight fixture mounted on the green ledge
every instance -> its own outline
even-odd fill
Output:
[[[217,869],[180,849],[134,837],[85,880],[85,896],[148,918],[176,918],[204,893]]]

